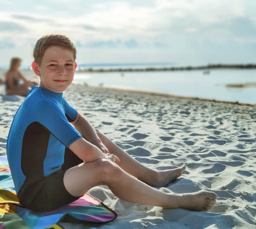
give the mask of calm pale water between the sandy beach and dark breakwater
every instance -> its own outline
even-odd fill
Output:
[[[227,88],[225,84],[256,83],[256,70],[178,72],[76,73],[75,83],[168,93],[177,96],[256,104],[256,87]]]

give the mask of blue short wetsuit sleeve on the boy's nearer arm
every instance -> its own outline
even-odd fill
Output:
[[[36,122],[47,128],[66,147],[82,137],[67,120],[61,107],[53,101],[40,99],[35,102],[32,114]]]

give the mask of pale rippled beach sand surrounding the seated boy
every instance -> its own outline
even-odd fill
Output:
[[[0,86],[0,91],[3,86]],[[218,194],[209,212],[162,209],[117,199],[107,186],[92,188],[118,213],[112,223],[66,229],[256,229],[256,109],[209,101],[173,99],[72,85],[64,98],[94,128],[149,168],[186,164],[183,176],[165,192],[199,190]],[[0,96],[0,155],[19,96]]]

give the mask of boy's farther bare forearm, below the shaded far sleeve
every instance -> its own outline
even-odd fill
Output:
[[[107,148],[105,150],[102,149],[102,146],[104,147],[104,145],[87,119],[78,113],[76,120],[71,123],[74,125],[76,130],[81,133],[81,135],[84,136],[91,144],[96,145],[104,153],[109,153]]]

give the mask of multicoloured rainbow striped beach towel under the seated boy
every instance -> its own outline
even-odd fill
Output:
[[[79,200],[51,212],[34,212],[18,203],[6,156],[0,156],[0,229],[63,229],[59,224],[109,223],[116,212],[85,194]]]

